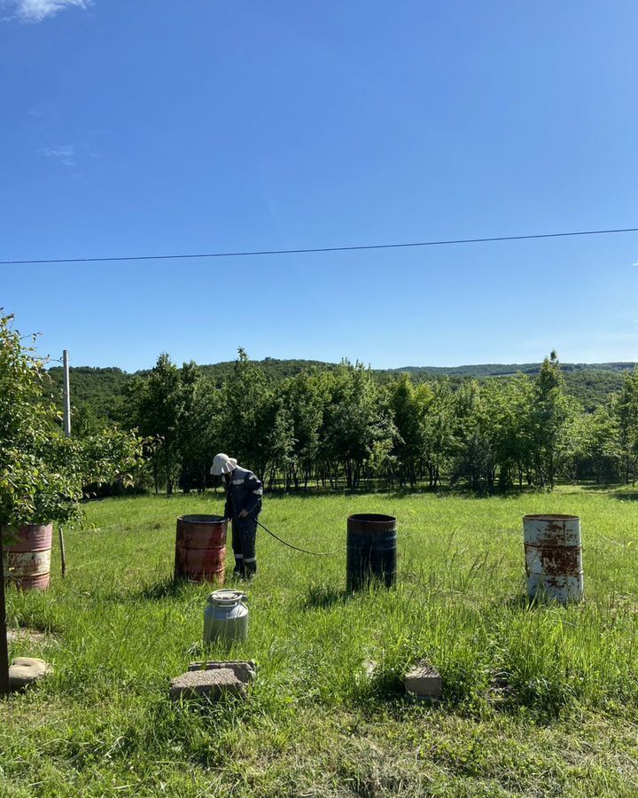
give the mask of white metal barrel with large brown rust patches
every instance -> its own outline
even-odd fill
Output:
[[[580,518],[577,515],[525,515],[527,595],[560,601],[583,597]]]

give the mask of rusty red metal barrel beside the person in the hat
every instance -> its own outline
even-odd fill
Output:
[[[182,515],[177,519],[175,579],[223,584],[227,522],[220,515]]]

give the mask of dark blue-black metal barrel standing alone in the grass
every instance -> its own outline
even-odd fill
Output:
[[[386,587],[396,582],[396,519],[392,515],[348,516],[346,589],[360,591],[371,580]]]

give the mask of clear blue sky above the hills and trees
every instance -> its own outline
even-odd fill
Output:
[[[638,226],[638,5],[0,0],[0,260]],[[76,365],[638,360],[638,234],[0,266]]]

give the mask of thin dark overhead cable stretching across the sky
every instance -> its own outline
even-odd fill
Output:
[[[407,241],[396,244],[358,244],[354,246],[308,246],[303,249],[256,249],[239,252],[199,252],[182,254],[120,255],[107,258],[38,258],[35,260],[0,261],[2,266],[37,263],[113,263],[121,261],[178,261],[188,258],[246,258],[256,255],[311,254],[323,252],[361,252],[367,249],[404,249],[409,246],[447,246],[449,244],[485,244],[490,241],[525,241],[529,239],[565,239],[570,236],[606,236],[611,233],[638,232],[638,227],[617,230],[579,230],[560,233],[533,233],[526,236],[493,236],[485,239],[444,239],[440,241]]]

